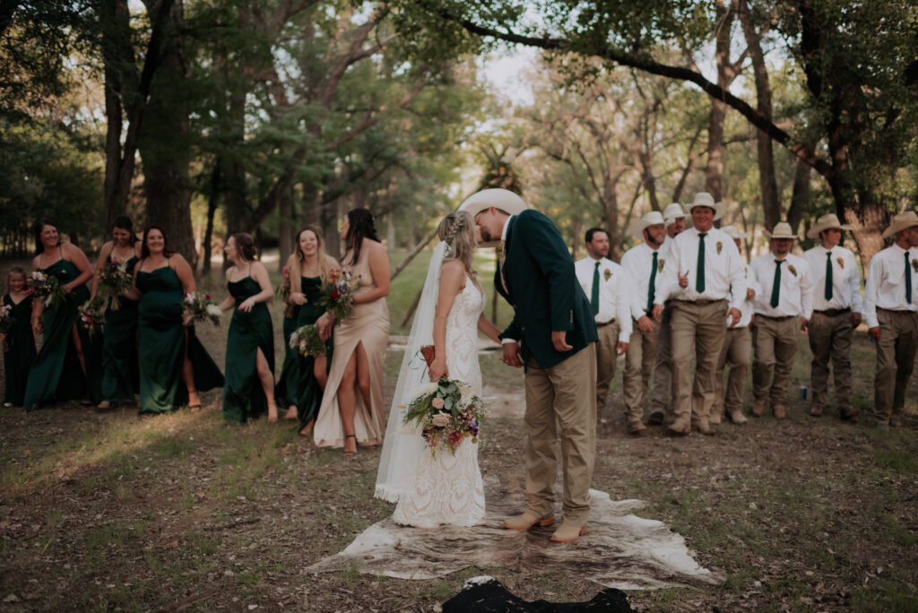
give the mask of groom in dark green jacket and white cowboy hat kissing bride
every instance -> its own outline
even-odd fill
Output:
[[[488,189],[461,208],[475,217],[485,244],[500,241],[494,285],[514,310],[500,335],[502,360],[526,367],[526,509],[504,527],[554,523],[560,460],[564,521],[552,541],[577,541],[587,530],[596,451],[598,337],[587,295],[558,229],[520,196]]]

